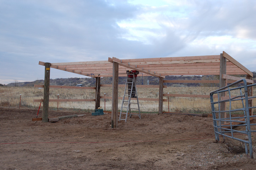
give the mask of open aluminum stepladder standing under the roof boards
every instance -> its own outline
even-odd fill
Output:
[[[125,90],[124,90],[123,101],[122,101],[122,106],[121,106],[121,111],[120,111],[120,116],[119,116],[119,121],[120,120],[125,120],[125,122],[127,122],[128,113],[129,113],[130,117],[132,117],[132,115],[134,114],[134,115],[138,115],[139,118],[141,119],[140,106],[139,106],[139,100],[138,100],[138,96],[137,96],[137,88],[136,88],[135,77],[134,77],[134,74],[128,74],[128,75],[132,75],[133,78],[127,78],[126,79],[126,86],[125,86]],[[128,88],[128,85],[132,86],[131,89]],[[135,90],[133,90],[134,88],[135,88]],[[137,103],[136,102],[131,102],[131,98],[132,98],[133,95],[137,96]],[[125,99],[127,97],[128,97],[128,100]],[[131,108],[131,104],[137,104],[138,108]],[[125,110],[126,110],[126,112],[124,112]],[[138,110],[139,114],[131,113],[131,110]],[[124,118],[121,119],[122,115],[125,115],[125,119]]]

